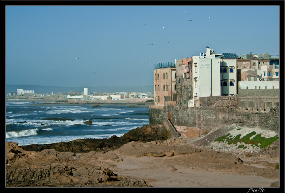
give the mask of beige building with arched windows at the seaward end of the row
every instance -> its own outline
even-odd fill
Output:
[[[176,101],[176,67],[159,66],[153,70],[154,105],[164,106],[166,101]]]

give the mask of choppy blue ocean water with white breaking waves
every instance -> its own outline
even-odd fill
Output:
[[[49,144],[84,138],[118,137],[149,123],[148,107],[109,105],[30,105],[32,102],[6,102],[6,141],[19,145]],[[39,103],[39,102],[37,102]],[[44,120],[67,118],[74,121]],[[92,120],[93,125],[84,124]],[[25,122],[26,121],[26,122]]]

